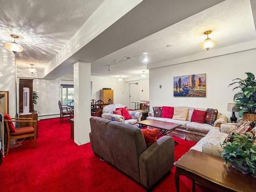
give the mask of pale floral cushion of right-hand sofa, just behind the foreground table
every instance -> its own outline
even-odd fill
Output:
[[[221,133],[218,130],[210,130],[205,136],[205,140],[202,143],[202,152],[208,155],[214,155],[221,157],[223,148],[221,144],[227,137],[227,134]]]

